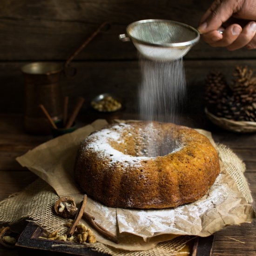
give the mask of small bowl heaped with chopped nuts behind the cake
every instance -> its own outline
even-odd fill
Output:
[[[98,112],[115,112],[123,108],[123,101],[113,94],[99,94],[91,101],[91,107]]]

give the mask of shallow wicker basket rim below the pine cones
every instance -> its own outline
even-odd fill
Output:
[[[217,117],[211,114],[207,108],[204,109],[206,116],[217,126],[238,133],[256,132],[256,122],[251,121],[233,121],[223,117]]]

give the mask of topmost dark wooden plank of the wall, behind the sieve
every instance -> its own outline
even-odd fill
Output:
[[[144,19],[176,20],[197,27],[212,0],[5,0],[0,2],[0,60],[66,60],[103,21],[112,23],[94,38],[77,60],[134,60],[131,42],[122,43],[131,22]],[[229,52],[203,40],[186,59],[255,58],[256,52]]]

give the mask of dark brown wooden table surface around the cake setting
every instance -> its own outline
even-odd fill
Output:
[[[91,115],[80,113],[77,125],[84,126],[98,118],[136,119],[135,115],[117,113],[115,115]],[[37,179],[37,176],[22,168],[15,158],[23,155],[41,143],[52,138],[51,135],[29,135],[22,128],[22,115],[0,114],[0,200],[24,189]],[[246,164],[245,176],[249,182],[254,200],[256,199],[256,133],[237,134],[222,130],[211,124],[203,115],[188,115],[182,124],[192,128],[203,128],[212,132],[216,142],[231,148]],[[253,203],[256,209],[256,203]],[[0,256],[17,256],[18,249],[0,246]],[[256,256],[256,221],[229,226],[216,232],[211,255]]]

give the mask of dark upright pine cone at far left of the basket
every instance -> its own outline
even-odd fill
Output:
[[[228,93],[228,85],[225,77],[218,71],[208,74],[204,88],[204,101],[208,108],[218,104],[222,96],[226,96]]]

